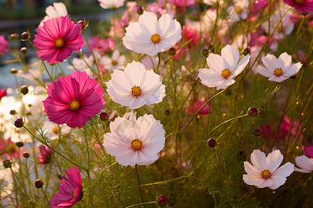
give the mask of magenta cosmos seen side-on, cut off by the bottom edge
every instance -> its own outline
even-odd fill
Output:
[[[65,170],[67,180],[62,179],[58,186],[59,193],[52,196],[50,207],[73,207],[76,202],[83,197],[83,186],[81,185],[81,172],[75,166],[72,169]]]

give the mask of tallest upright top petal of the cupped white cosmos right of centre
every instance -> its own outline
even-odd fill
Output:
[[[224,60],[224,69],[234,69],[239,60],[239,50],[235,46],[227,44],[222,49],[222,58]]]

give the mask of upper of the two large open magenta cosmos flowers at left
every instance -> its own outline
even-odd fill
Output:
[[[84,40],[81,37],[81,25],[74,24],[67,16],[52,18],[38,28],[35,40],[38,57],[48,64],[63,62],[73,51],[79,52]]]

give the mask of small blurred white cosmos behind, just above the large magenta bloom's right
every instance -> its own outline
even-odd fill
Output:
[[[125,55],[120,55],[120,51],[115,50],[113,51],[111,58],[103,56],[100,58],[100,62],[102,62],[104,68],[107,70],[124,69],[126,58]]]

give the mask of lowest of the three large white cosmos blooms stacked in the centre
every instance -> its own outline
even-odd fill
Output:
[[[110,123],[110,130],[104,135],[103,146],[122,166],[147,166],[159,159],[166,132],[152,115],[145,114],[135,121],[118,117]]]

